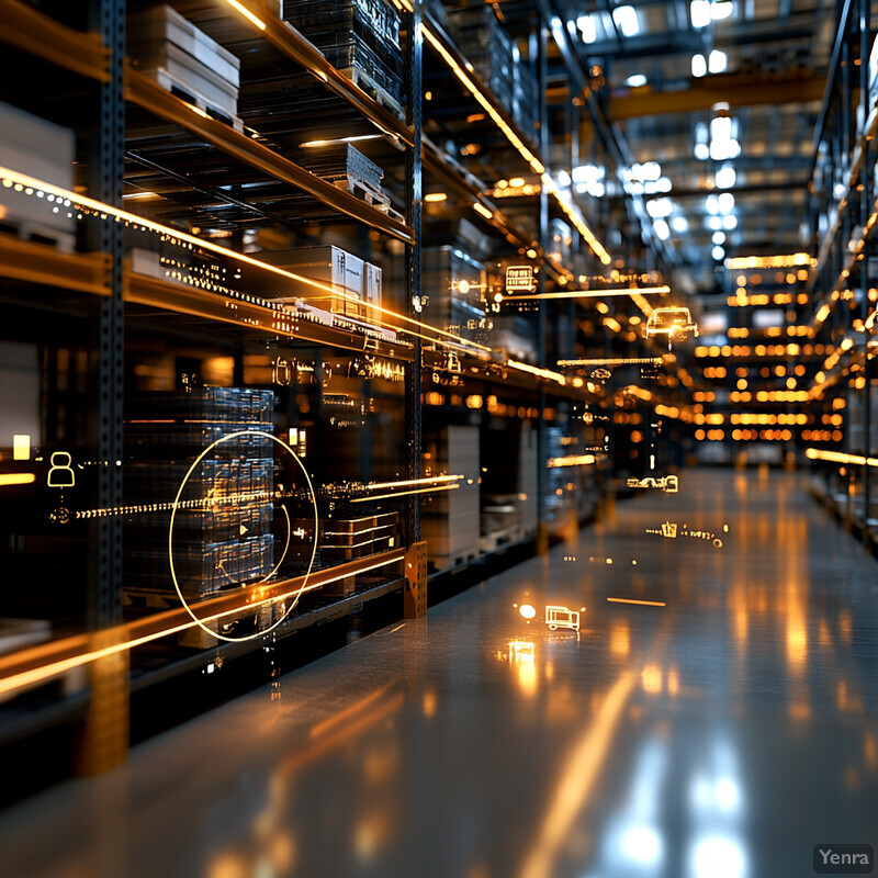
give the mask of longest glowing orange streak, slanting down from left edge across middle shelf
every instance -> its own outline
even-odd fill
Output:
[[[316,290],[322,290],[323,292],[331,293],[334,296],[337,296],[338,299],[344,299],[349,302],[354,302],[358,305],[364,304],[361,299],[357,299],[356,296],[351,296],[346,293],[339,292],[333,286],[328,286],[325,283],[315,281],[312,278],[306,278],[302,274],[295,274],[292,271],[286,271],[286,269],[280,268],[279,266],[271,266],[268,262],[263,262],[261,259],[256,259],[252,256],[248,256],[246,254],[239,254],[236,252],[235,250],[229,250],[228,248],[223,247],[219,244],[215,244],[214,241],[207,238],[196,238],[194,235],[189,235],[185,232],[181,232],[180,229],[170,228],[169,226],[164,226],[160,223],[154,223],[151,219],[146,219],[143,216],[130,213],[128,211],[123,211],[120,210],[119,207],[113,207],[110,204],[104,204],[102,201],[95,201],[94,199],[90,199],[87,195],[82,195],[77,192],[71,192],[68,189],[63,189],[61,187],[53,185],[52,183],[47,183],[45,180],[37,180],[34,177],[29,177],[26,173],[14,171],[11,168],[4,168],[0,166],[0,180],[2,181],[3,187],[5,187],[7,189],[10,188],[10,183],[8,183],[7,181],[11,181],[11,183],[13,184],[21,185],[25,191],[26,189],[40,190],[50,195],[55,195],[56,198],[60,196],[61,199],[65,199],[66,201],[70,202],[69,206],[71,209],[75,209],[77,205],[82,205],[83,207],[88,207],[89,210],[98,211],[101,214],[106,214],[108,216],[114,216],[119,221],[133,223],[134,225],[148,228],[151,232],[157,232],[160,235],[169,235],[177,240],[185,241],[187,244],[193,244],[205,250],[212,250],[213,252],[221,254],[222,256],[228,257],[230,259],[236,259],[239,262],[244,262],[245,264],[261,269],[262,271],[270,271],[273,274],[279,274],[282,278],[288,278],[290,280],[297,281],[299,283],[304,283],[307,284],[308,286],[313,286]],[[447,333],[444,329],[438,329],[435,326],[430,326],[429,324],[416,320],[414,317],[408,317],[404,314],[397,314],[395,311],[381,307],[380,305],[368,304],[368,307],[372,312],[380,312],[381,314],[386,314],[387,316],[393,317],[397,320],[404,320],[405,323],[412,324],[413,326],[417,326],[426,330],[430,335],[419,336],[419,337],[424,338],[427,341],[450,346],[449,341],[446,341],[446,339],[450,339],[457,346],[472,348],[476,351],[491,353],[491,348],[487,348],[484,345],[479,345],[475,341],[469,341],[465,338],[455,336],[453,333]],[[381,325],[398,329],[402,333],[408,333],[415,336],[418,335],[412,329],[405,329],[403,327],[397,327],[386,323],[382,324],[382,322],[380,320],[375,322]],[[437,336],[441,336],[441,338]]]

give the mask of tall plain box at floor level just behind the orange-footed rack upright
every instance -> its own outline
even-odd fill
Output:
[[[479,554],[479,428],[446,427],[425,440],[424,450],[425,475],[463,476],[453,491],[424,495],[421,507],[427,558],[447,570]]]

